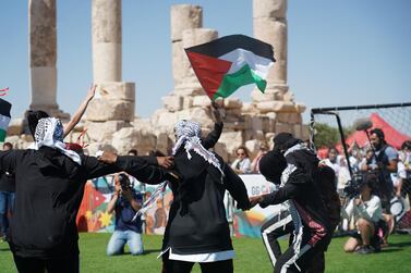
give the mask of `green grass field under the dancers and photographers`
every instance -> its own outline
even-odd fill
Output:
[[[146,253],[132,257],[128,253],[117,257],[106,256],[106,245],[111,234],[81,234],[81,272],[160,272],[161,261],[156,259],[160,247],[160,236],[145,236]],[[347,238],[333,239],[326,255],[326,272],[411,272],[411,235],[392,235],[390,246],[380,253],[359,256],[344,253],[342,245]],[[287,240],[282,240],[286,244]],[[237,252],[234,272],[273,272],[268,256],[259,239],[233,238]],[[16,272],[12,255],[5,243],[0,244],[0,272]],[[195,266],[193,272],[200,272]]]

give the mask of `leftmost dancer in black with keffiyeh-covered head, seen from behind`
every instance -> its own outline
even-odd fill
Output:
[[[118,157],[116,165],[67,150],[55,117],[32,112],[35,144],[27,150],[0,151],[0,170],[15,174],[15,210],[10,248],[19,272],[78,272],[75,218],[87,179],[126,171],[148,183],[168,178],[156,158]]]

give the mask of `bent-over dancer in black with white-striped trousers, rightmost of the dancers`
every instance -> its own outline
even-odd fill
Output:
[[[292,243],[283,253],[277,241],[270,241],[274,272],[306,272],[312,257],[323,251],[329,241],[330,223],[319,191],[310,175],[302,167],[287,163],[279,150],[264,156],[259,170],[280,187],[271,194],[251,197],[251,204],[266,208],[285,203],[289,211],[287,218],[291,221],[283,218],[283,229],[276,228],[275,232],[277,236],[293,232]]]

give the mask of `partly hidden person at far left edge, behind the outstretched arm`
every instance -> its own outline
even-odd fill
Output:
[[[13,149],[11,142],[3,144],[3,151]],[[14,174],[9,172],[0,173],[0,240],[8,240],[9,212],[13,213],[14,208]]]

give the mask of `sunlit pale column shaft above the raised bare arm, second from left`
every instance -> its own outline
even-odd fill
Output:
[[[121,0],[92,1],[95,83],[121,82]]]

